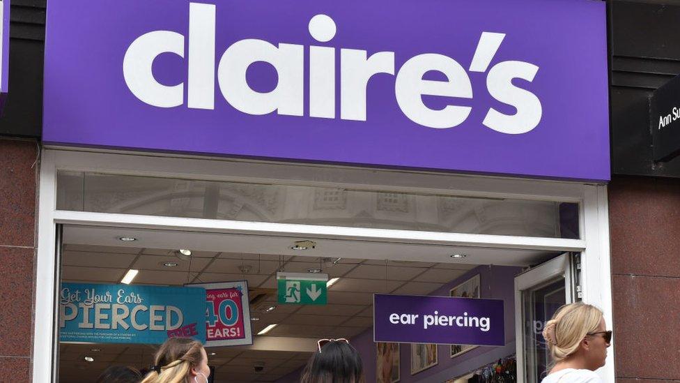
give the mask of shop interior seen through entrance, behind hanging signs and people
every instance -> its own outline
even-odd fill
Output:
[[[564,264],[566,259],[566,255],[559,257],[562,253],[545,250],[352,241],[332,236],[297,238],[78,225],[65,225],[62,232],[61,283],[117,285],[130,270],[137,270],[128,281],[130,286],[139,287],[247,281],[254,343],[208,347],[214,382],[297,382],[320,338],[349,339],[362,354],[367,382],[474,381],[479,375],[498,373],[499,368],[505,382],[513,381],[518,370],[516,333],[525,333],[517,329],[516,321],[527,322],[523,313],[528,313],[516,309],[520,307],[516,305],[516,277],[525,276],[526,282],[526,276],[532,275],[525,272],[528,267],[548,260]],[[311,242],[301,246],[298,241]],[[326,303],[281,303],[277,273],[327,274]],[[555,287],[554,278],[539,284],[549,287],[546,281]],[[560,288],[541,290],[548,296],[544,301],[554,298],[556,294],[551,292]],[[376,293],[502,299],[505,345],[373,343]],[[521,294],[519,299],[523,299]],[[60,324],[69,314],[61,312]],[[100,324],[112,319],[104,315]],[[156,349],[153,343],[111,338],[88,343],[62,339],[59,382],[96,382],[110,366],[130,366],[144,373],[153,365]],[[524,354],[520,360],[525,359]],[[538,363],[534,356],[532,363]],[[523,369],[519,370],[521,375]]]

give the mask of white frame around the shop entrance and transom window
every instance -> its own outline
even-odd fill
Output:
[[[56,172],[61,170],[210,181],[285,183],[401,193],[438,193],[469,197],[579,202],[581,239],[416,232],[58,211],[56,210]],[[41,153],[38,204],[33,382],[50,382],[56,363],[54,361],[54,334],[56,332],[55,287],[58,260],[56,260],[57,233],[55,228],[58,223],[580,251],[582,253],[583,301],[602,308],[605,320],[609,326],[612,324],[608,202],[606,186],[602,184],[481,177],[440,172],[378,170],[334,165],[271,163],[198,156],[178,158],[158,153],[93,152],[54,148],[44,149]],[[613,352],[609,353],[607,364],[600,370],[600,373],[605,381],[614,381]]]

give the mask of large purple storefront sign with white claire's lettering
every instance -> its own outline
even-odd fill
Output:
[[[608,180],[605,3],[49,0],[45,142]]]

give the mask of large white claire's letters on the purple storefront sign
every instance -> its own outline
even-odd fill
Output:
[[[215,5],[190,3],[187,54],[187,107],[215,108]],[[310,35],[320,43],[334,38],[337,27],[331,17],[316,15],[309,22]],[[486,88],[500,103],[516,109],[504,114],[489,107],[482,124],[506,134],[527,133],[541,121],[541,100],[532,92],[516,87],[512,81],[532,82],[538,66],[524,61],[503,61],[488,66],[504,39],[504,33],[483,32],[468,69],[487,72]],[[123,59],[123,75],[128,89],[139,100],[155,107],[184,105],[184,82],[165,85],[153,75],[153,61],[162,53],[185,58],[185,36],[174,31],[150,31],[130,44]],[[217,64],[217,83],[222,96],[232,107],[246,114],[304,114],[304,45],[248,38],[226,48]],[[309,47],[309,116],[336,118],[334,47]],[[428,128],[453,128],[470,116],[472,107],[451,104],[433,110],[422,96],[472,98],[470,76],[456,60],[442,54],[419,54],[408,59],[399,70],[394,66],[395,52],[340,49],[340,119],[366,121],[366,90],[374,76],[394,76],[394,94],[399,108],[411,121]],[[248,67],[255,62],[270,63],[278,75],[276,87],[268,92],[252,89],[246,79]],[[424,80],[435,71],[444,81]],[[662,120],[662,122],[665,122]],[[662,125],[660,122],[660,126]]]

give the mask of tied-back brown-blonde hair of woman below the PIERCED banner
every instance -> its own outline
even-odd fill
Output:
[[[203,359],[203,345],[191,338],[170,338],[156,352],[151,370],[141,383],[184,383]]]

